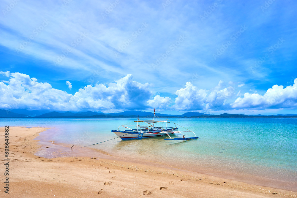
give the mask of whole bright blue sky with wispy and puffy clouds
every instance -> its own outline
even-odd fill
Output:
[[[297,2],[0,2],[0,109],[297,113]]]

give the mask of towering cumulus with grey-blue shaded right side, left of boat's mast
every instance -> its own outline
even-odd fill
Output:
[[[146,102],[152,94],[149,83],[141,84],[132,78],[133,75],[128,74],[116,83],[109,83],[108,86],[88,85],[79,89],[73,100],[82,109],[145,109],[148,107]]]

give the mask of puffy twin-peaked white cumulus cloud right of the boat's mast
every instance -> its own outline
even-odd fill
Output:
[[[187,82],[186,88],[176,91],[176,110],[208,110],[208,109],[228,109],[230,107],[227,100],[233,96],[234,87],[223,88],[224,82],[219,81],[212,90],[198,89],[192,83]],[[210,93],[209,93],[210,92]]]

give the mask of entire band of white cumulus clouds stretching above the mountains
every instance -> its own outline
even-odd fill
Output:
[[[284,88],[273,85],[265,94],[245,93],[238,97],[240,90],[235,84],[220,80],[217,86],[210,90],[199,89],[187,82],[185,88],[175,92],[176,98],[155,95],[149,83],[139,83],[133,80],[133,75],[116,80],[114,83],[87,85],[74,95],[53,88],[49,83],[39,83],[37,79],[22,73],[0,72],[9,80],[0,81],[1,109],[29,110],[239,110],[239,109],[278,109],[297,107],[297,78],[292,86]],[[67,81],[68,88],[72,85]],[[238,89],[238,88],[237,88]],[[238,92],[238,94],[236,94]],[[238,97],[238,98],[237,98]]]

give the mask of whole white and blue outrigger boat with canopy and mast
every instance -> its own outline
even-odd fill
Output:
[[[155,109],[156,110],[156,109]],[[154,118],[153,120],[140,120],[139,116],[137,118],[137,125],[121,125],[118,127],[118,130],[112,130],[117,136],[121,138],[121,140],[141,140],[142,138],[147,137],[159,137],[159,136],[168,136],[169,138],[164,140],[193,140],[198,137],[196,134],[190,130],[188,131],[178,131],[176,123],[169,122],[168,118],[166,120],[155,120],[155,110],[154,110]],[[131,123],[131,122],[130,122]],[[140,125],[139,123],[145,123],[146,125]],[[165,126],[166,123],[166,126]],[[168,126],[168,123],[173,123],[175,126]],[[119,130],[120,127],[124,127],[129,130]],[[194,133],[194,137],[185,137],[184,133],[192,132]],[[180,133],[183,137],[177,137],[172,139],[170,135]]]

